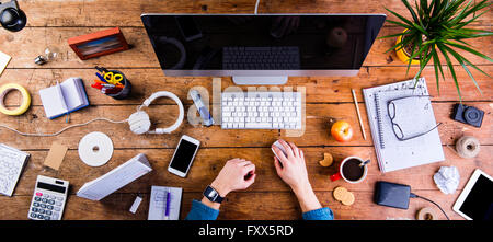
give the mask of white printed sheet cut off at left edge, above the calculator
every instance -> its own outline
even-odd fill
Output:
[[[0,143],[0,194],[12,196],[30,154]]]

